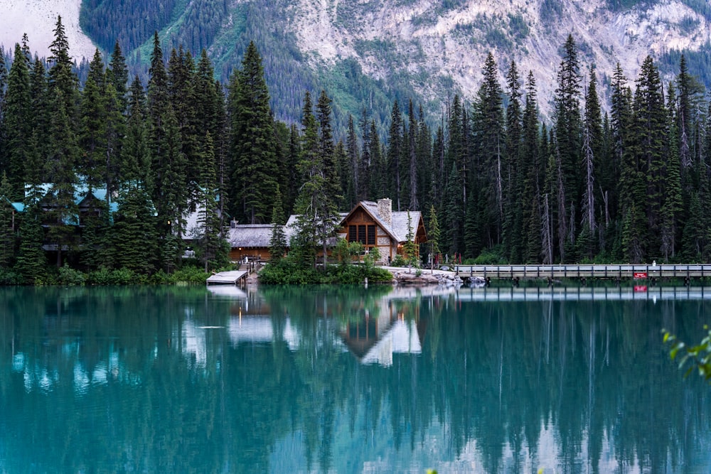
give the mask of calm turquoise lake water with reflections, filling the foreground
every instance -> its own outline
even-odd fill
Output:
[[[711,288],[0,288],[0,473],[709,473]]]

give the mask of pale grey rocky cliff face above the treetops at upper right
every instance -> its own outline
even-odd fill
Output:
[[[298,0],[289,28],[315,65],[355,58],[383,79],[406,70],[424,97],[442,97],[448,78],[474,97],[489,51],[501,70],[511,60],[522,77],[533,70],[540,96],[552,97],[569,33],[584,64],[611,75],[619,62],[631,80],[648,54],[711,41],[708,12],[649,3],[614,11],[604,0]]]

